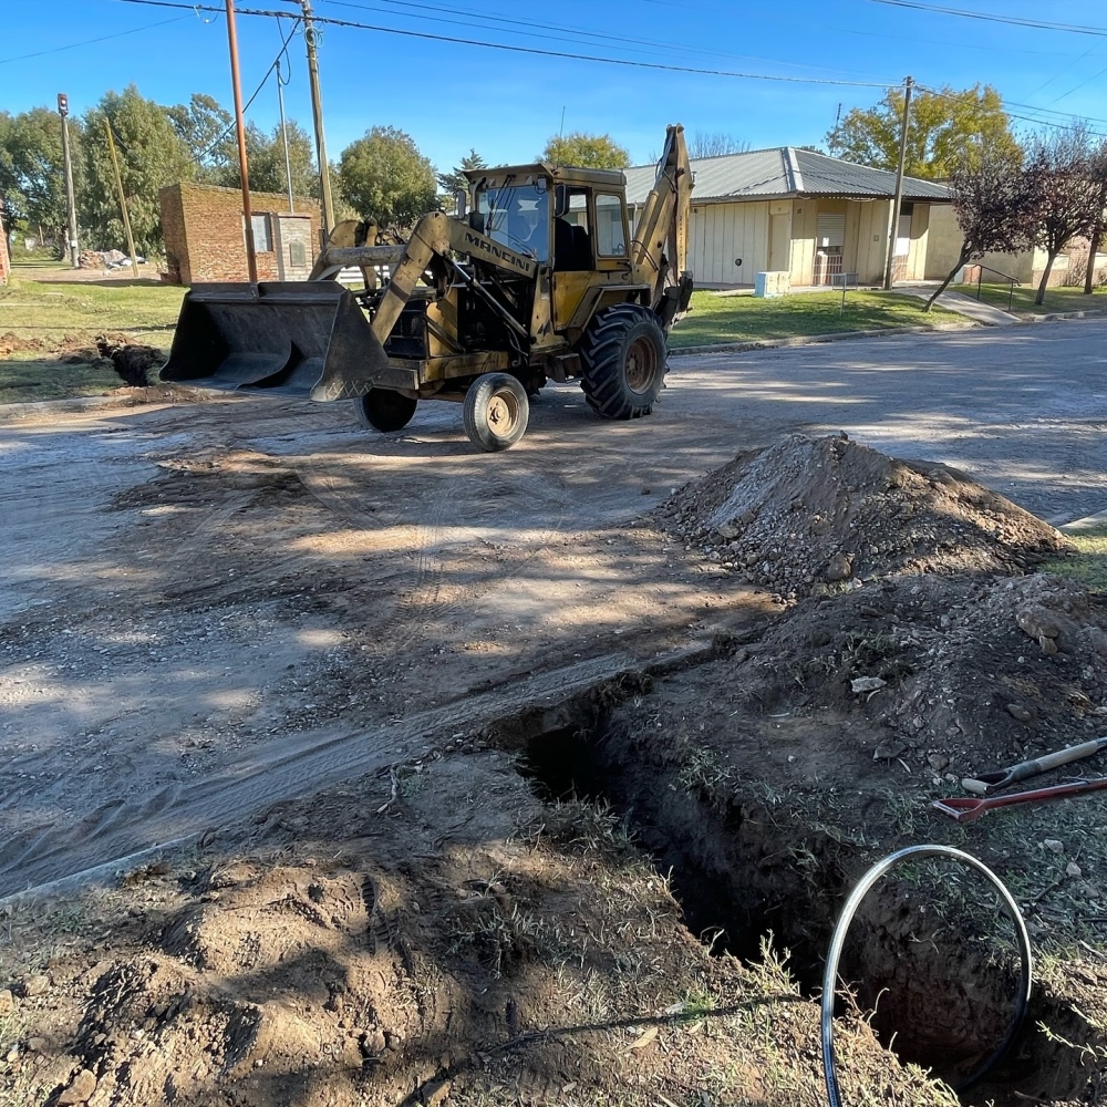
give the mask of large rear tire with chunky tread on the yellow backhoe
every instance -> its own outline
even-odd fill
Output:
[[[653,411],[665,380],[665,332],[649,308],[618,303],[600,312],[580,343],[580,386],[606,418]]]

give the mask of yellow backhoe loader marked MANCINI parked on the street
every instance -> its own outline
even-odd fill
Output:
[[[488,451],[518,442],[548,380],[579,380],[608,418],[649,415],[692,294],[683,127],[669,127],[633,237],[620,170],[466,176],[458,214],[425,215],[405,242],[356,246],[337,228],[307,281],[195,286],[162,379],[353,400],[384,432],[421,400],[461,401]],[[358,269],[364,288],[337,280]]]

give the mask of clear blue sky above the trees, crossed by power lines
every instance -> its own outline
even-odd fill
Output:
[[[289,0],[237,6],[298,11]],[[671,122],[690,133],[726,132],[754,148],[821,145],[839,105],[842,113],[868,106],[882,95],[880,86],[908,73],[933,87],[991,83],[1008,105],[1020,105],[1012,113],[1062,122],[1078,115],[1098,121],[1094,128],[1107,134],[1107,0],[931,6],[1103,33],[1008,25],[886,0],[314,0],[321,17],[479,43],[860,83],[660,71],[327,27],[320,71],[329,153],[337,158],[381,124],[411,134],[439,169],[470,146],[490,164],[529,161],[560,130],[562,112],[566,131],[608,132],[635,163],[656,155]],[[80,113],[105,91],[130,83],[165,104],[205,92],[231,106],[221,14],[125,0],[0,0],[0,11],[2,110],[53,106],[64,91]],[[245,95],[277,56],[280,27],[288,33],[291,25],[239,14]],[[117,37],[90,41],[107,35]],[[87,44],[59,49],[71,43]],[[288,51],[287,111],[310,130],[301,35]],[[37,56],[21,56],[29,54]],[[271,77],[248,117],[267,130],[277,123]],[[1024,120],[1015,125],[1034,126]]]

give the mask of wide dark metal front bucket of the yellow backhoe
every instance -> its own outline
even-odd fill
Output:
[[[197,284],[186,293],[163,381],[311,400],[363,396],[389,358],[337,281]]]

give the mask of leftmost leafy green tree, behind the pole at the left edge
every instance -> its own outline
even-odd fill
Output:
[[[15,220],[61,244],[66,238],[61,117],[49,107],[0,112],[0,199],[9,229]],[[80,187],[81,122],[69,122],[74,180]]]

